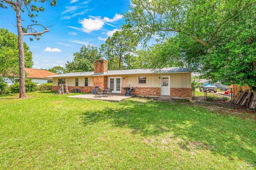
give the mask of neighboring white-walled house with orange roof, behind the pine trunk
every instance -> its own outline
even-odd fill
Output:
[[[53,76],[57,75],[53,72],[47,71],[47,70],[40,70],[40,69],[34,69],[34,68],[25,68],[25,72],[27,73],[26,78],[31,78],[32,82],[39,84],[44,83],[52,83],[52,78],[46,78],[46,76]],[[4,77],[6,80],[6,83],[8,85],[12,85],[13,82],[9,78]],[[19,81],[18,77],[14,77],[15,81]]]

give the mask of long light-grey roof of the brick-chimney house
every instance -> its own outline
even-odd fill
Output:
[[[111,76],[111,75],[125,75],[125,74],[160,74],[160,73],[180,73],[180,72],[191,72],[189,68],[178,68],[178,67],[169,67],[162,68],[158,70],[152,69],[133,69],[133,70],[110,70],[104,73],[94,72],[70,72],[66,74],[58,74],[53,76],[46,77],[77,77],[77,76]]]

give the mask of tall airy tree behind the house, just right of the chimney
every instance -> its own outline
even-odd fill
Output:
[[[108,37],[105,44],[101,45],[101,52],[108,60],[108,68],[112,70],[121,70],[125,56],[136,51],[138,45],[138,36],[131,29],[122,29],[116,31],[112,37]],[[118,68],[113,63],[118,63]]]

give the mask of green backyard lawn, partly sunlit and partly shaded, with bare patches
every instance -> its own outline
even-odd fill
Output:
[[[253,169],[256,123],[189,101],[0,96],[0,169]]]

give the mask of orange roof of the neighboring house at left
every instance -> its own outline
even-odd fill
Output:
[[[54,72],[34,68],[25,68],[25,72],[28,74],[27,78],[49,79],[45,77],[57,75]]]

